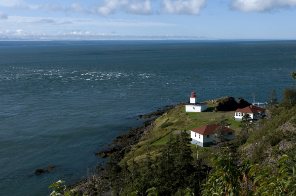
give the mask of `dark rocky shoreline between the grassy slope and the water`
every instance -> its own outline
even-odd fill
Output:
[[[114,145],[110,148],[107,148],[106,150],[96,152],[95,155],[100,156],[100,158],[107,158],[109,155],[113,154],[114,158],[120,161],[124,157],[125,150],[131,149],[135,145],[137,145],[139,142],[141,142],[145,136],[151,132],[154,128],[154,121],[159,117],[160,115],[164,114],[165,112],[168,112],[172,109],[175,109],[178,106],[188,104],[189,101],[177,103],[174,105],[167,105],[163,108],[159,108],[157,111],[145,114],[145,115],[139,115],[139,119],[147,119],[151,118],[143,123],[142,127],[136,127],[134,129],[131,129],[127,133],[122,133],[121,135],[118,135],[114,141],[109,145]],[[154,117],[154,118],[153,118]]]

